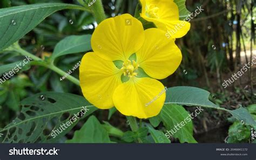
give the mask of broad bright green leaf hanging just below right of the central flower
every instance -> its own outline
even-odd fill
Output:
[[[166,104],[158,116],[163,121],[166,132],[169,131],[165,134],[166,136],[170,133],[171,136],[178,138],[181,143],[197,143],[193,137],[192,120],[183,106]],[[181,125],[181,122],[184,122],[184,125]],[[178,128],[178,124],[181,127]],[[170,136],[170,134],[168,135]]]

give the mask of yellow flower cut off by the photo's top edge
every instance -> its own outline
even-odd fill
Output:
[[[179,9],[173,0],[140,0],[140,3],[140,17],[167,32],[167,38],[183,37],[190,30],[190,23],[179,20]]]

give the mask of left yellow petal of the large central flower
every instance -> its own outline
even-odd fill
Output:
[[[100,109],[113,107],[112,95],[122,84],[121,75],[112,61],[103,60],[92,52],[85,54],[79,68],[84,97]]]

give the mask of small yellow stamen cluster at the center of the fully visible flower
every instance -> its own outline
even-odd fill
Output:
[[[132,62],[130,60],[127,60],[123,63],[123,67],[121,70],[124,71],[125,76],[134,77],[137,76],[138,73],[136,72],[138,70],[139,64],[136,63],[134,60]]]

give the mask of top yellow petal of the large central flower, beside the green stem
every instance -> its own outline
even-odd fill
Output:
[[[143,45],[143,31],[142,23],[130,14],[105,19],[92,34],[92,49],[103,59],[125,61]]]

